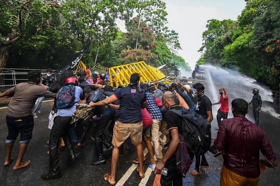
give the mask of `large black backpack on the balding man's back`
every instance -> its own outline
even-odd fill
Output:
[[[178,130],[185,137],[188,150],[195,155],[204,155],[211,146],[211,124],[199,115],[189,114],[185,108],[170,111],[182,117]]]

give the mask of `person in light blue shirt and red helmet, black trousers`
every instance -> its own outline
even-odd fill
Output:
[[[72,125],[72,115],[76,110],[76,105],[78,101],[84,100],[83,89],[78,85],[78,80],[75,77],[68,77],[65,80],[65,85],[75,85],[75,104],[71,108],[66,109],[58,109],[57,116],[54,119],[53,127],[50,131],[50,139],[49,139],[49,152],[50,152],[50,168],[47,174],[41,175],[41,178],[44,180],[51,180],[61,178],[62,174],[60,172],[58,166],[58,148],[59,148],[59,140],[60,137],[63,138],[68,161],[67,163],[71,164],[76,160],[77,155],[74,153],[72,145],[71,145],[71,138],[69,134],[69,130],[71,129]]]

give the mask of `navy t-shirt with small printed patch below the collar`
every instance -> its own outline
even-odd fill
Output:
[[[122,123],[139,123],[142,121],[141,107],[146,101],[146,93],[136,85],[121,88],[114,94],[120,100],[120,117]]]

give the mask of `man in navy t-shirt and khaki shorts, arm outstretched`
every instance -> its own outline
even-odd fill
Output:
[[[143,147],[142,147],[142,113],[141,108],[146,107],[146,93],[139,86],[140,75],[133,73],[130,76],[130,84],[121,88],[112,96],[97,103],[90,102],[91,106],[105,106],[120,100],[120,115],[115,122],[113,131],[114,146],[112,152],[112,171],[104,175],[104,179],[111,185],[115,185],[115,173],[118,164],[119,148],[122,143],[130,137],[131,142],[136,146],[139,159],[139,176],[144,178],[143,171]]]

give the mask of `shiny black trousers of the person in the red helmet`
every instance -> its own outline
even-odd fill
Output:
[[[50,174],[57,174],[60,172],[59,170],[59,160],[58,160],[58,148],[59,148],[59,140],[62,137],[65,143],[66,152],[68,158],[73,158],[74,152],[71,145],[71,138],[69,134],[69,130],[72,127],[70,124],[72,117],[62,117],[57,116],[54,119],[53,127],[50,131],[50,139],[49,139],[49,152],[50,152]]]

